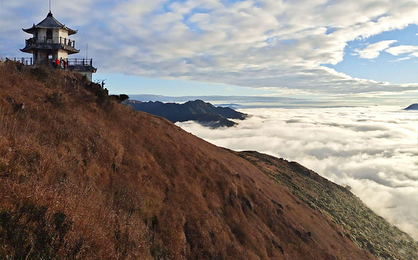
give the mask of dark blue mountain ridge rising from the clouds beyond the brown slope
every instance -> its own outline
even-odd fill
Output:
[[[244,120],[248,117],[245,113],[240,113],[228,107],[214,106],[200,99],[188,101],[185,104],[163,103],[161,101],[141,102],[127,100],[124,102],[136,111],[151,113],[155,116],[161,116],[171,122],[196,121],[201,125],[211,128],[231,127],[237,123],[228,120]]]

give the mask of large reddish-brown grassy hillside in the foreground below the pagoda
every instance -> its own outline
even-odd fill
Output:
[[[250,161],[80,75],[0,65],[0,122],[0,259],[376,259]]]

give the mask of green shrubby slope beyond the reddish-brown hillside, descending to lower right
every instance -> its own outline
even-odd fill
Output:
[[[342,227],[342,233],[380,259],[418,259],[418,244],[412,237],[390,225],[368,209],[347,188],[330,182],[295,162],[277,159],[256,151],[242,151],[239,156],[286,185],[292,194],[311,208],[330,216]]]

